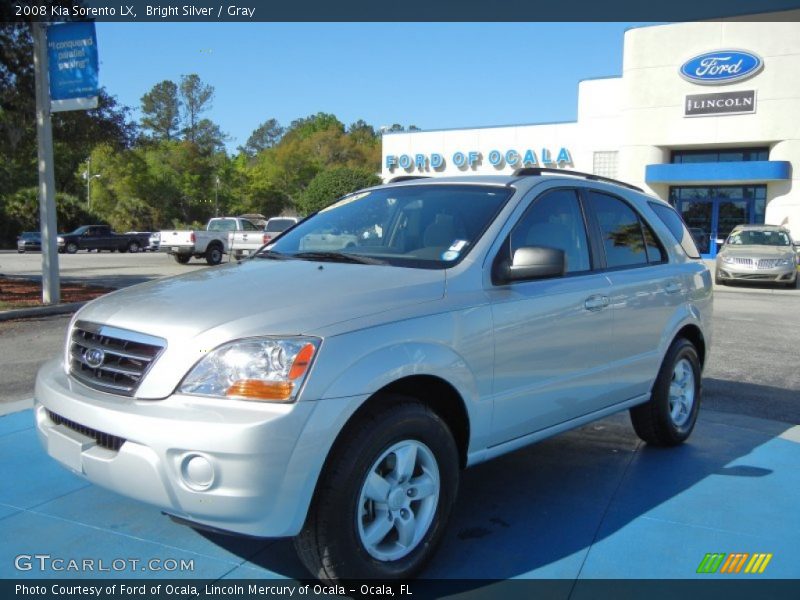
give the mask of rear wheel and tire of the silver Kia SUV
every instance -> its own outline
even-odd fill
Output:
[[[686,338],[667,351],[650,400],[631,409],[636,435],[653,446],[677,446],[691,435],[700,410],[700,359]]]

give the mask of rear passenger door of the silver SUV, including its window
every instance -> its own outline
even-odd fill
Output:
[[[650,392],[665,332],[685,301],[680,266],[670,264],[658,236],[634,205],[620,196],[585,190],[611,282],[614,394],[625,400]]]

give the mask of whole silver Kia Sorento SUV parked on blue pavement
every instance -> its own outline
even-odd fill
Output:
[[[648,443],[689,436],[698,258],[668,204],[594,176],[374,187],[250,260],[88,304],[39,372],[39,435],[169,514],[296,536],[321,579],[409,577],[462,468],[624,409]]]

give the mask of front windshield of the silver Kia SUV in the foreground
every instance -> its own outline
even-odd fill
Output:
[[[463,258],[514,190],[477,185],[383,188],[346,196],[267,246],[309,259],[320,253],[443,269]],[[355,261],[351,261],[355,262]],[[366,262],[366,261],[364,261]]]

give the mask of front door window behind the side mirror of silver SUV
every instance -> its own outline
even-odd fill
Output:
[[[524,246],[563,250],[567,273],[591,268],[586,225],[575,190],[552,190],[533,201],[511,232],[511,256]]]

